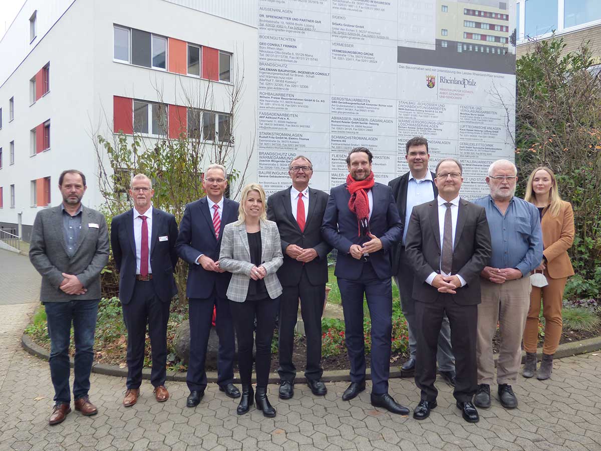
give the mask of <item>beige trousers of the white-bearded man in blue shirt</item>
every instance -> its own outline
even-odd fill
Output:
[[[478,305],[478,384],[493,384],[495,360],[492,339],[499,324],[500,349],[496,382],[512,384],[522,361],[522,333],[530,307],[530,278],[498,284],[482,280],[482,302]]]

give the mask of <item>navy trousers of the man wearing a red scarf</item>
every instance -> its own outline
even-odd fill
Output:
[[[363,264],[359,280],[338,278],[344,312],[345,341],[349,352],[350,381],[365,379],[363,295],[371,316],[372,393],[388,393],[392,334],[392,282],[377,277],[371,263]]]

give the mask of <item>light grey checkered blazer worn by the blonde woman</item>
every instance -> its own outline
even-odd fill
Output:
[[[261,266],[267,275],[263,279],[267,293],[272,299],[282,294],[276,271],[282,266],[282,247],[278,225],[273,221],[261,220]],[[236,302],[246,301],[248,282],[251,279],[251,251],[248,247],[246,225],[236,221],[225,225],[219,254],[219,267],[232,273],[227,298]]]

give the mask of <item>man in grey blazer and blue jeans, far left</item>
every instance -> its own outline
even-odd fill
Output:
[[[94,330],[100,301],[100,271],[109,258],[109,236],[102,213],[84,207],[87,189],[81,171],[63,171],[58,178],[63,202],[40,210],[31,232],[29,260],[41,274],[40,301],[46,308],[50,336],[50,376],[55,405],[49,424],[70,413],[69,341],[75,338],[75,410],[97,413],[88,398],[94,360]]]

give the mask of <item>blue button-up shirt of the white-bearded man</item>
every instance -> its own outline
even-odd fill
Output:
[[[534,271],[543,261],[543,233],[537,208],[513,197],[503,215],[490,194],[474,203],[484,207],[489,223],[492,256],[488,266],[516,268],[523,277]]]

